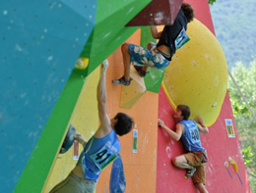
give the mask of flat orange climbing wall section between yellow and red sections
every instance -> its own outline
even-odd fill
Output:
[[[138,30],[127,41],[139,43],[141,31]],[[124,112],[129,114],[138,130],[138,149],[137,153],[133,153],[133,134],[132,132],[126,136],[120,137],[121,141],[121,157],[124,164],[127,187],[125,192],[155,192],[156,190],[156,170],[157,170],[157,140],[158,140],[158,108],[159,96],[154,92],[146,92],[139,98],[132,109],[120,108],[120,100],[123,87],[113,85],[112,78],[122,75],[123,64],[121,50],[118,48],[110,57],[110,68],[107,72],[107,88],[108,92],[108,109],[110,117],[116,112]],[[133,82],[135,83],[135,82]],[[134,92],[134,90],[131,90]],[[126,97],[130,98],[133,93],[127,93]],[[110,102],[111,101],[111,102]],[[127,99],[129,101],[129,99]],[[103,170],[99,177],[96,192],[109,191],[110,167]],[[150,173],[150,174],[149,174]],[[149,183],[149,181],[154,183]]]

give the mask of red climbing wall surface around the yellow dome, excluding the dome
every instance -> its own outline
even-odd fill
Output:
[[[205,24],[214,34],[214,26],[211,13],[206,0],[188,0],[195,8],[196,19]],[[171,64],[170,64],[171,65]],[[159,94],[159,118],[165,124],[174,129],[175,122],[172,118],[173,108],[170,106],[164,92],[160,89]],[[201,115],[204,117],[204,115]],[[235,137],[227,135],[225,119],[233,122]],[[243,163],[240,142],[234,125],[233,115],[229,102],[228,93],[224,98],[224,104],[217,121],[209,127],[208,134],[200,133],[202,146],[208,151],[209,163],[206,165],[206,188],[209,192],[226,193],[250,193],[249,182],[246,169]],[[184,179],[185,169],[176,169],[171,165],[171,159],[184,153],[180,141],[176,142],[159,127],[158,132],[158,159],[157,159],[157,192],[197,192],[191,179]],[[238,175],[233,166],[228,162],[231,157],[237,164]],[[228,162],[228,169],[224,167],[224,162]],[[232,178],[231,178],[232,177]]]

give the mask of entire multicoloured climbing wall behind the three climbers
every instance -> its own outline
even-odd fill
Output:
[[[165,3],[166,0],[158,1]],[[38,3],[29,0],[3,3],[0,42],[5,49],[0,52],[0,146],[4,164],[0,169],[3,182],[0,192],[48,192],[74,168],[77,161],[73,148],[63,155],[59,150],[70,123],[86,139],[95,133],[98,66],[105,58],[110,63],[106,73],[108,116],[113,118],[117,112],[127,113],[136,121],[134,129],[138,131],[137,153],[133,153],[132,132],[120,137],[127,180],[125,192],[196,192],[192,181],[184,179],[185,170],[175,169],[170,164],[173,157],[184,153],[181,143],[170,139],[157,125],[160,118],[173,128],[172,115],[178,103],[193,106],[193,118],[206,117],[210,126],[210,133],[201,135],[210,158],[206,169],[207,189],[210,192],[250,192],[225,91],[226,65],[220,45],[214,39],[207,1],[188,0],[196,10],[197,19],[189,27],[194,27],[194,31],[189,32],[191,42],[185,45],[190,47],[189,56],[182,57],[186,53],[177,51],[166,71],[150,69],[145,78],[132,70],[134,80],[130,87],[111,83],[123,72],[120,50],[123,42],[147,47],[148,42],[154,41],[147,24],[140,24],[142,27],[126,24],[156,2],[48,0]],[[181,3],[180,0],[168,2],[175,8]],[[204,28],[214,40],[204,36],[202,42],[198,26],[202,35],[206,35],[201,30]],[[210,54],[209,47],[213,51]],[[222,60],[218,60],[221,55]],[[199,60],[200,57],[204,60]],[[79,58],[82,66],[74,68]],[[217,66],[212,59],[218,61]],[[185,78],[189,84],[181,83],[181,70],[188,70],[191,61],[198,62],[199,66],[193,63],[192,74]],[[194,75],[194,70],[198,74]],[[201,73],[205,73],[203,80]],[[207,89],[202,85],[205,82]],[[214,92],[211,84],[216,86]],[[220,88],[220,93],[216,94]],[[207,108],[200,102],[204,99],[211,99],[205,103],[210,105]],[[196,112],[198,109],[200,111]],[[238,174],[228,162],[229,157],[236,162]],[[109,192],[110,168],[102,171],[96,192]]]

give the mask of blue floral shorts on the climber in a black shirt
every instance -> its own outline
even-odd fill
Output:
[[[169,65],[160,52],[157,50],[156,44],[151,44],[150,50],[135,44],[129,44],[129,53],[131,62],[135,66],[148,66],[154,69],[162,69]]]

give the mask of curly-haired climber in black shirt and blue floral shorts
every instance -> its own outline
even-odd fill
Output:
[[[141,76],[146,75],[148,67],[155,69],[167,67],[176,49],[189,40],[185,30],[187,29],[187,23],[192,22],[194,17],[192,6],[183,2],[172,25],[165,25],[162,31],[158,31],[157,26],[151,27],[152,36],[159,39],[158,44],[151,42],[148,49],[135,44],[122,44],[124,75],[119,79],[113,79],[112,82],[129,86],[131,82],[131,63]]]

